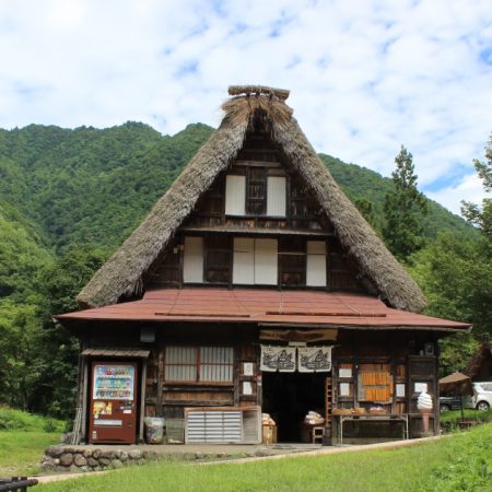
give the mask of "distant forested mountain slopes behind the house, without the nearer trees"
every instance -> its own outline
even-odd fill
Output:
[[[114,249],[212,131],[199,124],[163,137],[136,122],[104,130],[37,125],[0,130],[0,199],[19,212],[24,226],[28,221],[37,227],[45,244],[56,250],[74,242]],[[391,181],[328,155],[321,159],[349,197],[374,203],[380,223]],[[425,235],[471,234],[462,219],[430,203]]]

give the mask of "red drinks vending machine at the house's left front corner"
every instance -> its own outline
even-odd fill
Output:
[[[90,443],[137,440],[137,363],[93,362]]]

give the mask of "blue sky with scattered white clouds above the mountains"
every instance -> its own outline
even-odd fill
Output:
[[[230,84],[291,90],[318,152],[419,186],[459,213],[484,196],[490,0],[0,0],[0,127],[218,126]]]

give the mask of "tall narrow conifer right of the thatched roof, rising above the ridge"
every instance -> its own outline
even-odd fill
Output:
[[[386,194],[383,237],[391,253],[405,260],[423,246],[422,219],[427,214],[424,196],[417,189],[412,154],[401,145],[391,173],[394,189]]]

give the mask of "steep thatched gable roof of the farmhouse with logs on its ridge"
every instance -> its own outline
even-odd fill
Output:
[[[104,306],[115,304],[124,294],[139,291],[142,276],[191,212],[200,195],[236,157],[249,125],[260,114],[272,140],[311,188],[360,272],[393,307],[420,312],[425,306],[422,292],[335,183],[292,117],[292,109],[285,104],[289,92],[263,86],[239,86],[233,92],[239,95],[224,103],[225,117],[220,128],[142,224],[94,274],[79,294],[79,303],[84,307]]]

